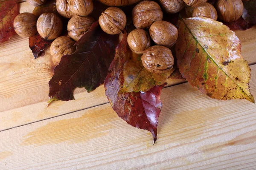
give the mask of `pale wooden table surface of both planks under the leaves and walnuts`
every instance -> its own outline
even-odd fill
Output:
[[[26,2],[20,13],[32,12]],[[236,31],[256,97],[256,26]],[[28,38],[0,45],[0,170],[178,169],[255,170],[256,105],[219,101],[187,82],[163,89],[158,140],[112,110],[103,86],[46,108],[52,77],[49,50],[33,59]]]

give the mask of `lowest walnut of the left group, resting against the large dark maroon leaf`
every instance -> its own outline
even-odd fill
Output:
[[[69,37],[61,36],[56,38],[50,47],[53,63],[58,65],[62,56],[75,52],[76,46],[74,46],[74,44],[75,41],[71,40]]]

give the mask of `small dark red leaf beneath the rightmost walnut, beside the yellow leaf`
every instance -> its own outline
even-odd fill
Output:
[[[224,21],[221,22],[228,26],[231,30],[247,30],[254,26],[254,24],[247,23],[242,17],[232,23],[226,23]]]

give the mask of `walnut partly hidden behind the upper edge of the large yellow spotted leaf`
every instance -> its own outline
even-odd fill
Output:
[[[218,18],[216,9],[209,3],[204,3],[203,5],[194,8],[192,12],[192,17],[198,16],[212,18],[215,21]]]

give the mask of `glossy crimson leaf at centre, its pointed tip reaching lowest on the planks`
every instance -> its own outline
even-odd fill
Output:
[[[116,47],[116,55],[111,62],[111,72],[105,79],[105,94],[117,115],[129,125],[148,130],[157,140],[158,117],[162,108],[160,93],[163,88],[154,86],[146,92],[130,92],[119,94],[119,89],[124,79],[122,77],[122,63],[125,62],[127,51],[127,31],[120,44]]]

